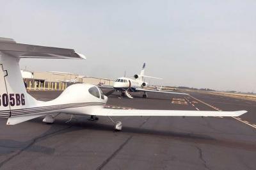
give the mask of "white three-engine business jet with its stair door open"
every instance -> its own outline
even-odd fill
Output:
[[[187,93],[177,93],[172,92],[170,90],[161,90],[161,89],[150,89],[148,86],[148,82],[145,82],[144,78],[151,78],[151,79],[161,79],[157,77],[151,77],[144,75],[146,63],[143,64],[142,70],[140,74],[135,74],[133,79],[128,77],[120,77],[116,79],[112,86],[102,86],[105,88],[114,88],[112,91],[106,93],[107,96],[111,95],[115,91],[120,92],[120,96],[126,95],[129,98],[133,98],[131,93],[129,92],[143,92],[142,97],[147,98],[147,92],[154,92],[154,93],[169,93],[169,94],[177,94],[177,95],[189,95]]]

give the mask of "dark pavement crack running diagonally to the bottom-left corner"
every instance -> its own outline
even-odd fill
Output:
[[[0,168],[1,168],[2,166],[4,166],[4,164],[6,164],[6,163],[8,163],[10,160],[12,160],[13,158],[19,156],[23,151],[28,150],[28,149],[29,149],[31,146],[33,146],[33,144],[35,144],[38,140],[43,139],[43,138],[45,138],[45,137],[49,137],[49,136],[51,136],[51,135],[53,135],[53,134],[58,134],[59,132],[61,132],[61,131],[63,131],[63,130],[67,130],[68,128],[71,128],[71,127],[72,127],[72,126],[69,126],[69,127],[66,127],[66,128],[61,128],[60,130],[57,130],[57,131],[55,131],[55,132],[51,132],[51,133],[49,133],[49,134],[44,134],[44,135],[40,135],[40,136],[38,136],[38,137],[35,137],[33,140],[31,140],[31,142],[30,142],[26,147],[22,148],[21,150],[19,150],[19,151],[18,151],[17,153],[15,153],[14,155],[12,155],[12,156],[6,158],[5,160],[3,160],[3,161],[0,163]]]

